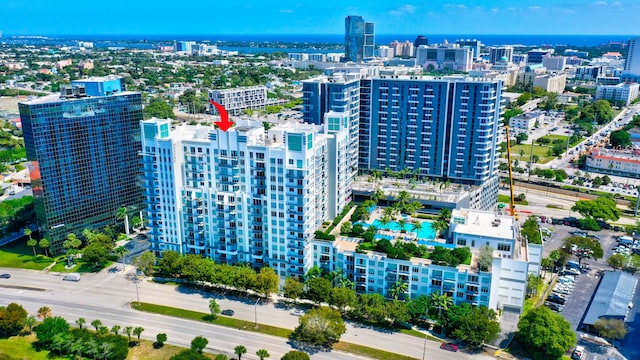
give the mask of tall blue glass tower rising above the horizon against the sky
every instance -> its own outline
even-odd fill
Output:
[[[345,61],[362,62],[373,57],[375,48],[374,26],[362,16],[347,16],[344,19]]]

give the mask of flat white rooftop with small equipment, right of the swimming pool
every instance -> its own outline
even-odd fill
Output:
[[[505,240],[515,240],[517,237],[516,220],[491,211],[455,209],[451,214],[451,221],[452,231],[458,234]]]

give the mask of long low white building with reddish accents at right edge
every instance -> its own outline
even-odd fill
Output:
[[[636,149],[595,148],[587,156],[585,170],[602,174],[640,178],[640,152]]]

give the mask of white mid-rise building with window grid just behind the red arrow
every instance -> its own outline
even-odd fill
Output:
[[[224,90],[209,90],[213,100],[232,115],[240,115],[248,109],[264,109],[267,105],[267,87],[264,85]]]

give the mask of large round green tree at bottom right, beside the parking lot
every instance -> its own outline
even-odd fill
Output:
[[[534,360],[560,359],[576,344],[571,324],[545,306],[520,319],[515,339]]]

